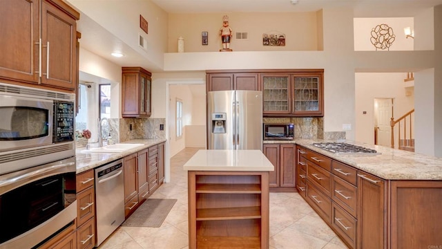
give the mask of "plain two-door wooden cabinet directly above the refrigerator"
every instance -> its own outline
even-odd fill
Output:
[[[207,91],[251,90],[259,91],[258,73],[215,73],[206,74]]]

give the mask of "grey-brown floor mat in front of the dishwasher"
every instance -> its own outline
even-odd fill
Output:
[[[177,199],[147,199],[122,226],[160,228]]]

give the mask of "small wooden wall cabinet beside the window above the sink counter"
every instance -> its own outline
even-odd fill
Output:
[[[151,73],[141,67],[122,68],[123,118],[151,116]]]

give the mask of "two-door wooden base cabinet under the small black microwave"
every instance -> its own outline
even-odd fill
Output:
[[[296,192],[296,145],[266,144],[262,152],[275,167],[269,172],[271,192]]]

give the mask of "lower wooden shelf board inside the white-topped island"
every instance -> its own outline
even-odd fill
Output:
[[[261,219],[260,207],[197,208],[197,221],[225,221],[238,219]]]

